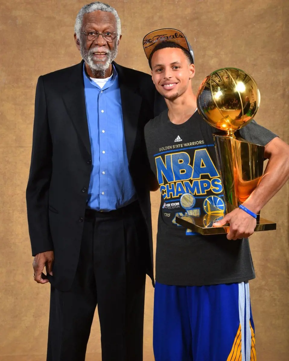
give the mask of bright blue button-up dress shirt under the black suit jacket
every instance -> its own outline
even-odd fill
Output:
[[[83,65],[86,115],[92,155],[87,206],[108,212],[136,199],[126,155],[118,75],[101,89]]]

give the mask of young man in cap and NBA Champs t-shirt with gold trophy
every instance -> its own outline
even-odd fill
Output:
[[[194,54],[185,35],[176,29],[155,30],[144,37],[143,47],[156,90],[168,106],[145,127],[155,189],[160,188],[161,192],[154,303],[155,360],[256,360],[248,284],[255,278],[255,272],[247,237],[254,230],[266,229],[258,213],[289,178],[289,146],[251,120],[259,107],[259,91],[248,74],[238,69],[231,73],[226,69],[216,72],[215,78],[210,78],[208,86],[202,88],[197,108],[197,97],[191,87]],[[229,88],[233,91],[228,93]],[[215,150],[216,129],[197,110],[202,107],[207,121],[227,112],[213,124],[224,128],[231,139],[228,142],[233,144],[223,156],[217,156]],[[236,130],[241,142],[234,140]],[[223,138],[220,143],[224,143]],[[246,178],[260,169],[252,149],[257,149],[262,161],[269,159],[263,177],[257,174],[255,178],[250,175]],[[227,177],[224,182],[225,168],[232,161],[230,152],[232,157],[234,152],[245,154],[248,162],[240,161],[242,174],[234,166],[232,179]],[[220,163],[224,166],[221,171]],[[235,208],[229,206],[230,202],[235,204],[232,188],[241,194],[238,193]],[[180,219],[190,219],[192,227],[182,227]],[[199,228],[210,229],[211,235],[192,231],[198,229],[194,226],[200,219]],[[227,223],[229,230],[225,234],[221,230],[226,229]],[[221,234],[216,234],[219,230]]]

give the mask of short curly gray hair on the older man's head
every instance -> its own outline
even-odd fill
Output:
[[[116,20],[116,32],[117,32],[117,40],[120,39],[121,35],[121,24],[120,24],[120,17],[117,14],[117,11],[112,6],[109,6],[108,4],[101,3],[100,1],[95,1],[94,3],[90,3],[87,5],[84,5],[77,14],[75,26],[74,26],[74,32],[76,33],[77,39],[80,40],[80,31],[82,27],[82,21],[83,16],[88,13],[92,13],[94,11],[106,11],[109,13],[112,13],[115,16]]]

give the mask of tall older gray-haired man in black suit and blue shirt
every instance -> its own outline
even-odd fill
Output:
[[[113,61],[111,6],[85,5],[74,38],[83,61],[38,79],[26,191],[34,279],[51,283],[47,360],[85,360],[98,305],[102,359],[141,361],[154,282],[143,128],[165,104],[149,75]]]

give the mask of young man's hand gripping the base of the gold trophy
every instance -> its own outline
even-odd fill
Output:
[[[247,238],[254,233],[256,219],[241,208],[236,208],[218,222],[213,223],[213,227],[221,227],[225,223],[230,223],[228,239]]]

